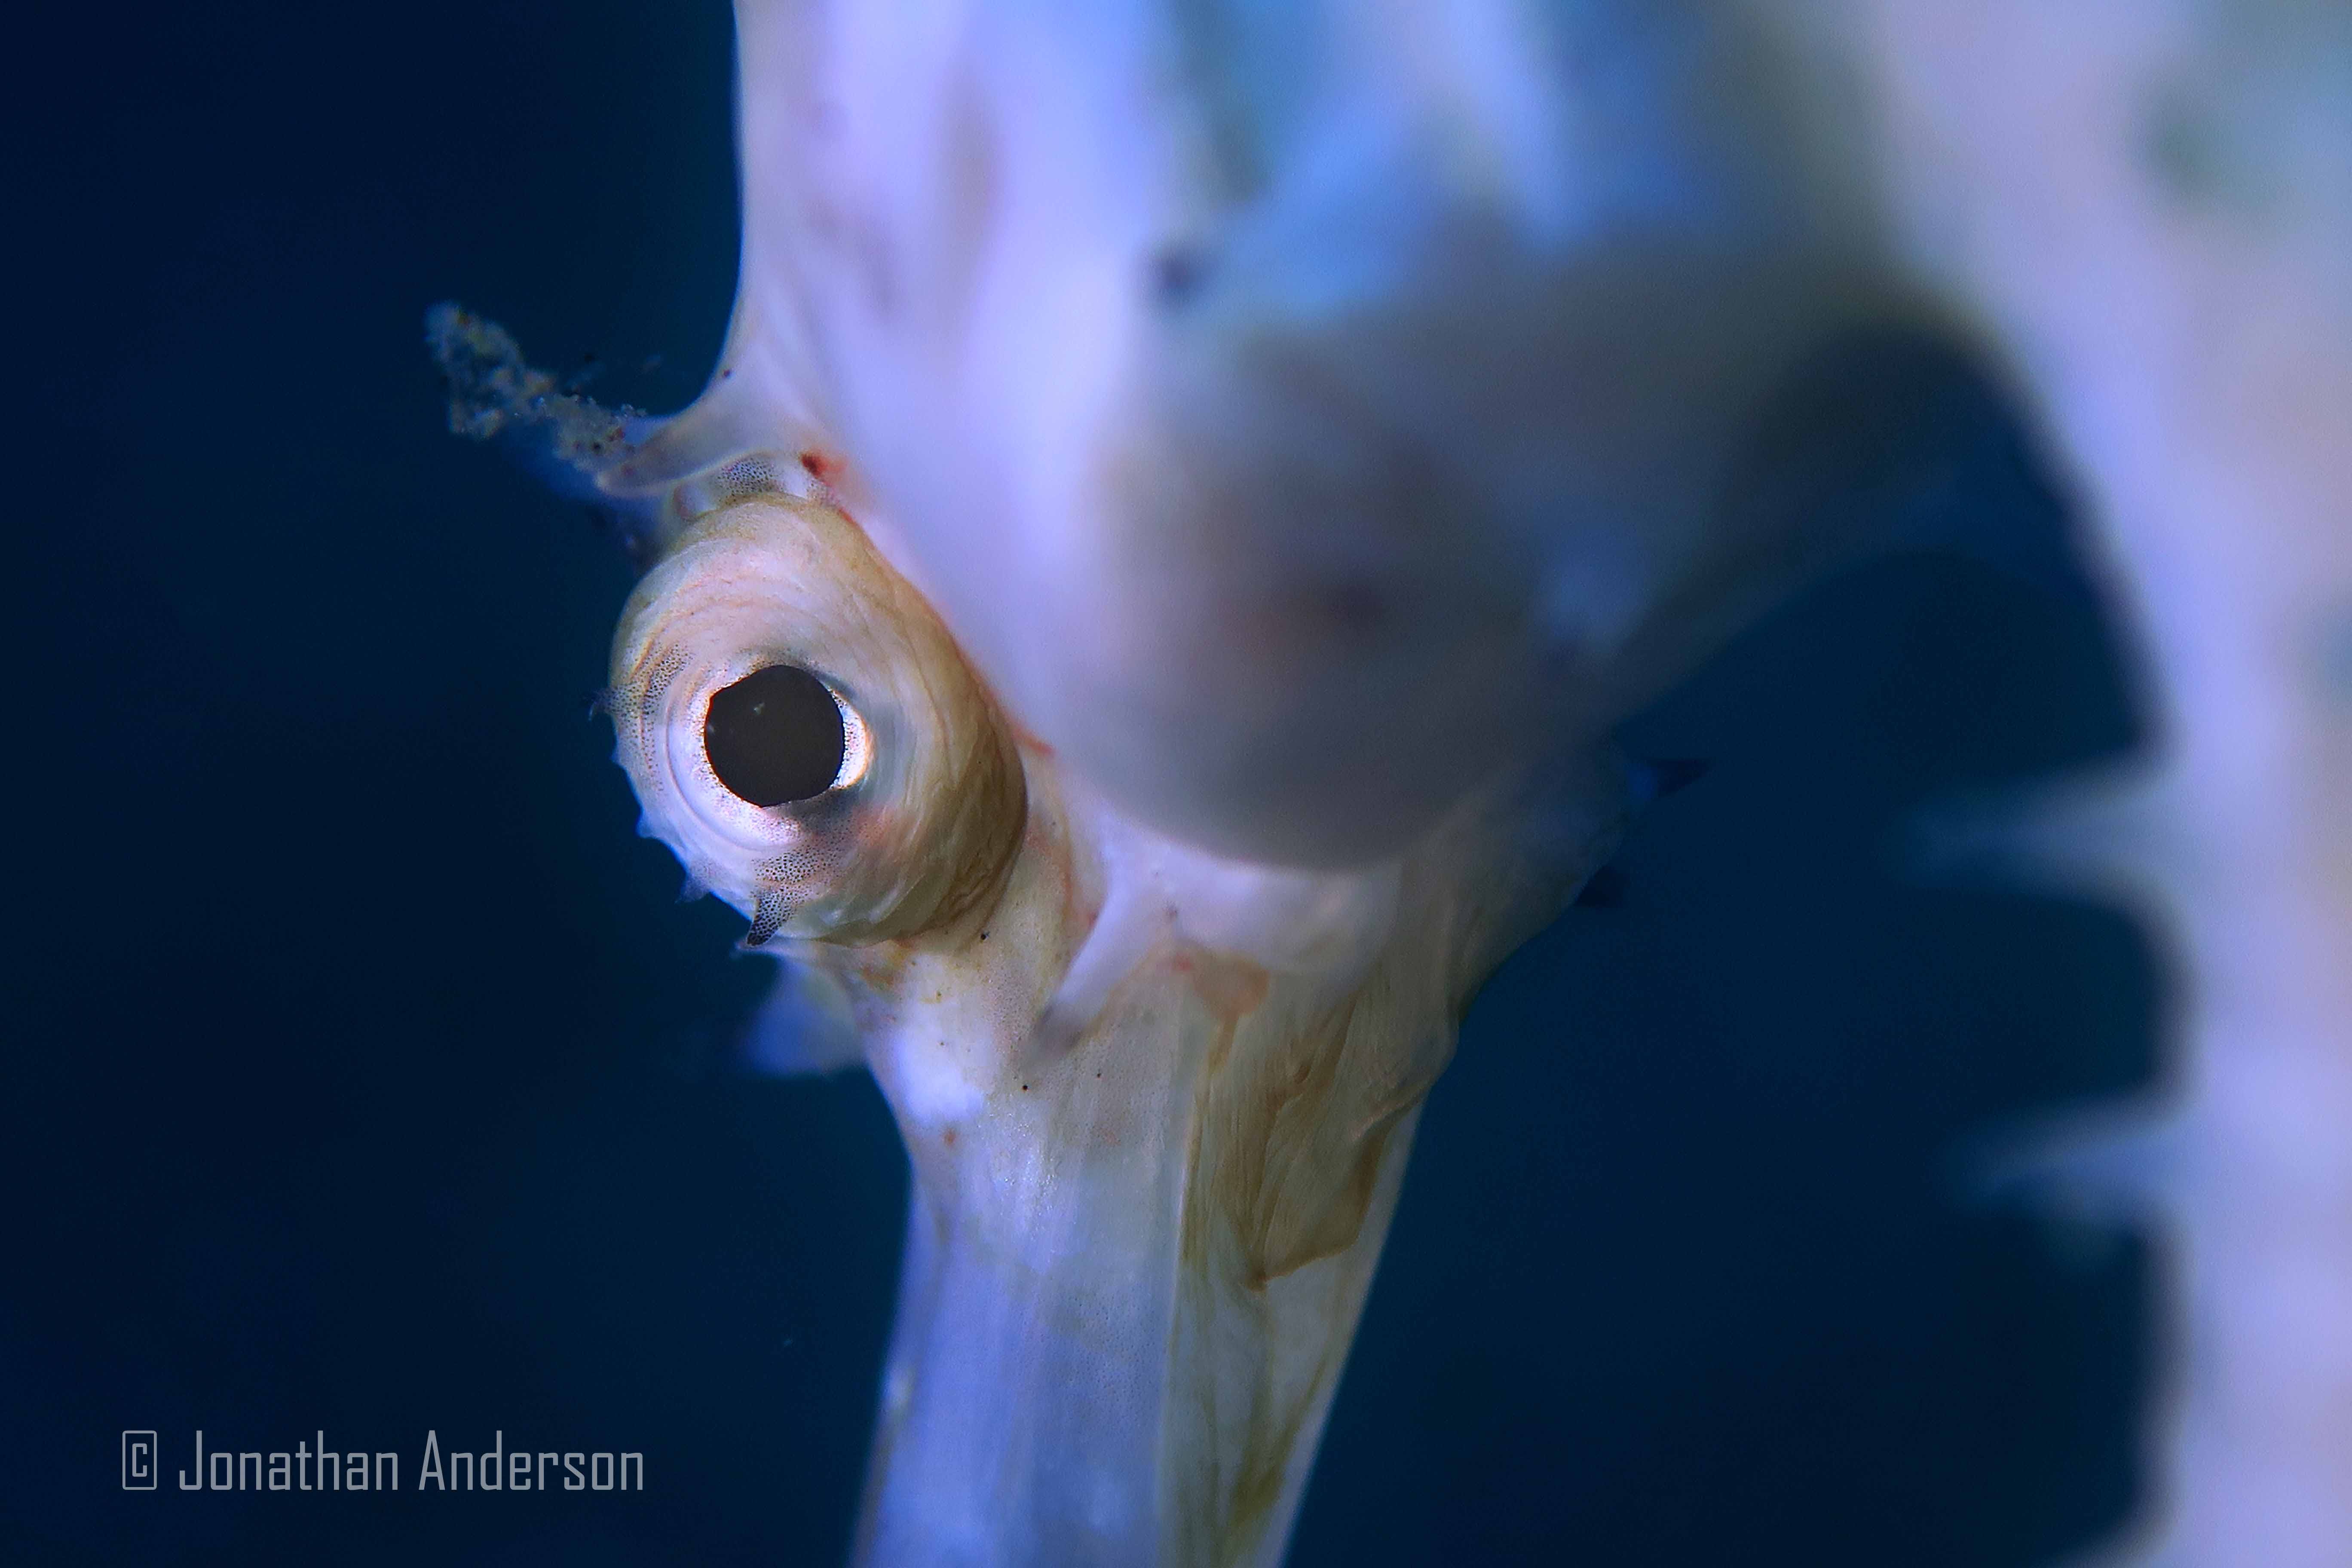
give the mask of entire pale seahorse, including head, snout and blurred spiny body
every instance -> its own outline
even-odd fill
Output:
[[[2173,945],[2173,1081],[2039,1157],[2176,1260],[2119,1552],[2352,1561],[2338,7],[736,26],[703,395],[428,339],[623,520],[642,830],[908,1145],[861,1563],[1282,1559],[1454,1027],[1672,776],[1613,724],[1893,543],[1776,468],[1889,334],[2030,414],[2159,715],[1985,830]]]

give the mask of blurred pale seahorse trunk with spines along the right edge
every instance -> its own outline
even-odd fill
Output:
[[[1879,0],[1896,183],[2138,635],[2154,757],[2070,818],[2176,959],[2173,1307],[2119,1559],[2352,1563],[2352,14]]]

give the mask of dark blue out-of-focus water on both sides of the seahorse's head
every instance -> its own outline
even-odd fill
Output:
[[[588,717],[630,571],[442,430],[463,299],[687,402],[734,292],[713,0],[87,7],[19,40],[9,1563],[830,1563],[906,1171]],[[1919,536],[1628,729],[1715,769],[1479,999],[1294,1563],[2049,1561],[2136,1490],[2145,1239],[1971,1131],[2157,1072],[2119,917],[1919,809],[2124,748],[1992,400],[1860,355],[1811,503]],[[1853,388],[1849,388],[1853,390]],[[1839,463],[1849,463],[1839,468]],[[1816,487],[1818,489],[1818,487]],[[1804,482],[1792,494],[1804,494]],[[162,1488],[125,1493],[122,1429]],[[214,1448],[642,1450],[642,1495],[179,1493]]]

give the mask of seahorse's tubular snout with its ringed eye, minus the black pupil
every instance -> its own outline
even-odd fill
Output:
[[[1402,856],[1214,856],[1011,729],[835,505],[682,517],[614,642],[647,832],[847,1004],[915,1166],[870,1563],[1272,1563],[1470,992],[1613,846],[1628,776],[1498,773]],[[699,757],[762,661],[863,710],[788,806]],[[781,903],[783,914],[771,917]]]

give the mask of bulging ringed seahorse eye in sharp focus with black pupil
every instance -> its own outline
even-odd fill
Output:
[[[614,632],[614,757],[642,830],[757,947],[887,940],[995,896],[1025,776],[929,602],[821,501],[689,520]]]

